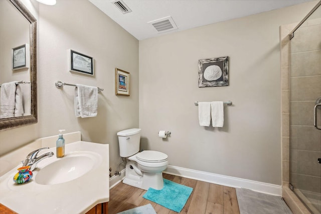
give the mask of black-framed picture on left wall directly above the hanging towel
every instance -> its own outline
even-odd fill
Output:
[[[69,70],[87,75],[94,75],[94,58],[77,51],[69,52]]]

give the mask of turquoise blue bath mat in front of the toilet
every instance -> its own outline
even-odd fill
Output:
[[[180,212],[193,191],[192,187],[184,186],[164,179],[164,187],[161,190],[149,188],[142,196],[168,209]]]

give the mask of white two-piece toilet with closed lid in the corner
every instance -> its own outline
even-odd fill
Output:
[[[148,190],[162,189],[163,171],[169,161],[167,154],[145,150],[139,152],[141,129],[127,129],[117,133],[120,157],[126,158],[123,183]]]

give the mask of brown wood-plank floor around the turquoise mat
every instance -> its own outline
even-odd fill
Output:
[[[163,177],[193,188],[193,192],[180,213],[188,214],[239,214],[239,205],[235,188],[214,183],[184,178],[163,173]],[[142,196],[146,190],[139,189],[122,182],[110,189],[108,214],[115,214],[137,206],[150,203],[157,214],[175,214],[177,212],[165,208]]]

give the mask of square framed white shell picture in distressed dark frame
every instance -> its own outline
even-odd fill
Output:
[[[199,60],[199,87],[229,85],[228,56]]]

